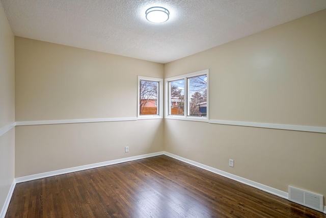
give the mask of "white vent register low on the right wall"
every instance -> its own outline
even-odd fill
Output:
[[[323,196],[289,186],[289,201],[323,212]]]

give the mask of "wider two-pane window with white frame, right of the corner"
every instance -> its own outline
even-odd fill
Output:
[[[165,80],[166,118],[208,121],[208,69]]]

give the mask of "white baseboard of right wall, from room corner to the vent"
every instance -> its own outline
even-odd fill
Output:
[[[232,179],[234,181],[237,181],[237,182],[252,186],[254,188],[258,188],[258,189],[260,189],[262,191],[266,191],[266,192],[271,193],[273,195],[276,195],[278,197],[288,199],[288,193],[285,192],[285,191],[281,191],[279,189],[272,188],[272,187],[269,187],[267,185],[260,184],[258,182],[254,182],[254,181],[251,181],[249,179],[245,179],[245,178],[242,178],[242,177],[239,177],[239,176],[236,176],[236,175],[221,171],[220,169],[216,169],[216,168],[213,168],[213,167],[210,167],[210,166],[207,166],[207,165],[204,165],[204,164],[201,164],[201,163],[198,163],[198,162],[195,162],[195,161],[192,161],[192,160],[189,160],[189,159],[186,159],[186,158],[171,154],[169,152],[164,152],[164,154],[169,156],[169,157],[172,157],[174,159],[180,160],[182,162],[185,162],[185,163],[197,166],[199,168],[205,169],[206,171],[212,172],[214,174],[218,174],[218,175],[224,176],[226,178]]]

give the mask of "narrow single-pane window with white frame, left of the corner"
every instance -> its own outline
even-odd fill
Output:
[[[138,77],[138,118],[162,118],[162,79]]]

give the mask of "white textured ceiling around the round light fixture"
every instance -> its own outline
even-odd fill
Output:
[[[15,36],[167,63],[326,8],[326,0],[1,0]],[[149,7],[170,19],[146,20]]]

